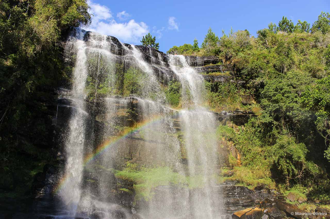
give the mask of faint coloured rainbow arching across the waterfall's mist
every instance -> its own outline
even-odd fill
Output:
[[[161,119],[161,116],[153,116],[147,120],[144,120],[141,123],[137,123],[136,127],[133,129],[127,129],[122,131],[119,135],[114,136],[105,142],[103,142],[101,145],[99,145],[92,153],[88,154],[84,159],[83,159],[83,166],[85,167],[90,161],[93,159],[97,158],[99,155],[101,155],[103,152],[105,152],[108,148],[110,148],[112,145],[114,145],[116,142],[120,141],[121,139],[126,138],[130,134],[138,131],[139,129],[143,128],[144,126],[150,125],[152,123],[156,123]],[[57,193],[58,191],[63,188],[66,182],[70,179],[70,175],[66,174],[62,177],[62,179],[57,183],[56,186],[54,186],[53,193]]]

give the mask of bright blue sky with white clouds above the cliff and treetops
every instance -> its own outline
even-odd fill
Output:
[[[330,12],[330,0],[277,1],[106,1],[92,0],[92,24],[88,30],[117,37],[121,42],[139,45],[151,33],[166,52],[174,45],[202,44],[209,27],[218,35],[247,29],[252,35],[287,16],[313,24],[321,11]]]

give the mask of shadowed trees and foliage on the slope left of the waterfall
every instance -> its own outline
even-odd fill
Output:
[[[35,170],[53,162],[47,106],[70,74],[58,42],[90,23],[88,9],[85,0],[0,2],[1,189],[28,194]]]

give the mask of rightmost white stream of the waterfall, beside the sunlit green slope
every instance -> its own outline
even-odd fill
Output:
[[[215,215],[221,213],[220,205],[215,205],[219,197],[212,191],[212,176],[218,169],[215,156],[217,123],[213,113],[202,107],[206,95],[204,80],[182,55],[170,55],[170,66],[182,84],[182,106],[186,110],[179,115],[187,150],[189,177],[201,178],[203,182],[203,188],[193,192],[191,209],[194,218],[217,218]]]

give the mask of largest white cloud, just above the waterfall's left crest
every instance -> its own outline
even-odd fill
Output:
[[[93,3],[92,1],[89,1],[88,4],[90,6],[90,13],[92,13],[94,16],[92,16],[91,25],[85,28],[86,30],[114,36],[117,37],[120,41],[126,43],[140,42],[142,36],[149,33],[149,28],[144,22],[136,22],[135,20],[131,19],[128,22],[120,23],[113,18],[108,7]],[[123,12],[119,13],[126,13],[125,11]]]

